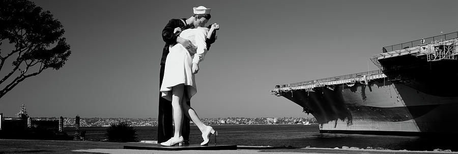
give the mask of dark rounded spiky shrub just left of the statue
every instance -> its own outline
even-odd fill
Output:
[[[135,142],[137,141],[136,131],[129,122],[111,123],[106,129],[106,136],[108,141]]]

